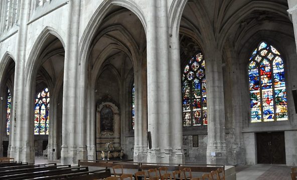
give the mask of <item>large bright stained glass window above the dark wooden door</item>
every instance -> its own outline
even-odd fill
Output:
[[[248,64],[251,122],[287,120],[283,59],[278,50],[260,42]]]

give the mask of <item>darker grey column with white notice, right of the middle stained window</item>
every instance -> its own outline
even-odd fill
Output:
[[[216,48],[210,48],[208,52],[205,54],[208,116],[207,163],[226,164],[222,55]]]

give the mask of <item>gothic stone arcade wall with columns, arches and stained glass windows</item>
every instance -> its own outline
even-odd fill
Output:
[[[296,18],[296,0],[2,0],[0,156],[296,165]]]

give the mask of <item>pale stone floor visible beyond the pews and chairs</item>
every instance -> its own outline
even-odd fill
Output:
[[[35,163],[51,163],[60,164],[60,160],[51,161],[46,158],[35,158]],[[256,164],[256,165],[237,165],[237,180],[290,180],[290,166],[282,164]]]

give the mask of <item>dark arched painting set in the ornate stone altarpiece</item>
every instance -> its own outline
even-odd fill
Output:
[[[113,132],[113,111],[108,106],[100,111],[100,130]]]

